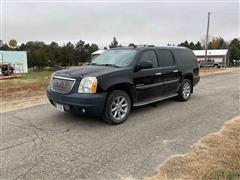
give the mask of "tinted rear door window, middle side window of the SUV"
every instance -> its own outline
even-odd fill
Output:
[[[157,54],[160,67],[174,66],[174,59],[169,50],[158,50]]]

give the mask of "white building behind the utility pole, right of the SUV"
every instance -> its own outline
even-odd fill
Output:
[[[205,60],[205,50],[194,50],[193,53],[197,57],[198,62]],[[225,66],[228,65],[228,49],[212,49],[207,50],[207,59],[215,62],[222,62]]]

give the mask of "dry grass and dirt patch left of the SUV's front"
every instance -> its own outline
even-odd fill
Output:
[[[52,71],[33,71],[22,78],[0,81],[0,112],[17,110],[47,102],[46,89]]]

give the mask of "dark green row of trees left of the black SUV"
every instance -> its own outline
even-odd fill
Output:
[[[89,60],[91,53],[98,50],[96,44],[86,44],[82,40],[62,46],[56,42],[46,44],[42,41],[29,41],[17,46],[12,41],[3,44],[0,50],[27,51],[28,66],[37,68],[78,65]]]

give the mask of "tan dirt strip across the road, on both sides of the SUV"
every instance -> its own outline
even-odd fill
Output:
[[[200,76],[239,71],[240,68],[201,68]],[[38,74],[37,74],[38,75]],[[9,112],[21,108],[47,103],[46,88],[50,74],[43,73],[33,79],[9,79],[0,81],[0,112]]]

